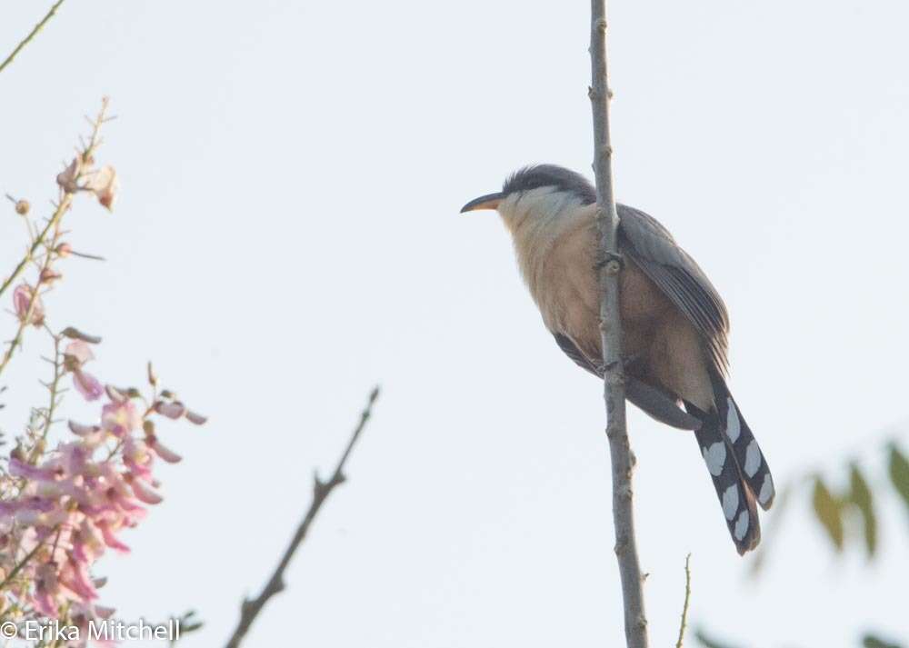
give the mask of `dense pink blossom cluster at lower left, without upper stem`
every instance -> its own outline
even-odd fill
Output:
[[[82,368],[92,357],[76,340],[64,366],[85,399],[106,395],[99,422],[70,422],[75,437],[52,452],[17,446],[10,455],[4,490],[14,494],[0,501],[0,610],[15,605],[26,616],[76,624],[109,616],[113,610],[96,604],[103,583],[91,568],[108,550],[128,552],[121,533],[161,502],[155,462],[180,461],[155,434],[154,417],[205,423],[171,394],[157,394],[156,379],[151,400],[102,387]]]

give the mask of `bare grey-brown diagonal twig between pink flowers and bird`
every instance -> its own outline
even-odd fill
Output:
[[[347,447],[345,448],[344,454],[341,455],[341,459],[338,460],[338,463],[335,466],[335,473],[332,474],[327,482],[323,482],[321,479],[319,479],[318,474],[314,475],[313,502],[310,503],[309,510],[306,511],[306,514],[303,517],[303,521],[296,528],[294,538],[287,546],[284,555],[281,556],[281,562],[278,563],[278,566],[275,568],[275,573],[272,574],[271,578],[268,579],[268,583],[265,584],[265,589],[263,589],[262,593],[256,596],[255,599],[246,599],[240,606],[240,623],[237,623],[234,634],[227,642],[227,648],[238,648],[240,643],[243,642],[243,638],[245,637],[246,633],[249,632],[249,628],[255,621],[256,616],[262,612],[262,608],[265,607],[265,603],[268,603],[268,599],[270,599],[276,593],[280,593],[285,589],[284,573],[287,569],[287,565],[290,564],[291,559],[294,557],[294,553],[299,548],[300,544],[302,544],[305,540],[306,533],[309,532],[309,527],[313,523],[313,520],[315,520],[315,514],[319,512],[319,509],[322,507],[322,504],[325,503],[328,495],[331,494],[331,492],[335,489],[335,486],[344,484],[344,466],[347,462],[347,457],[350,456],[351,451],[354,449],[356,440],[360,437],[360,434],[363,432],[363,429],[366,426],[366,422],[373,414],[373,404],[375,404],[375,400],[378,397],[379,388],[375,387],[372,393],[369,394],[369,401],[366,403],[363,412],[360,414],[360,421],[356,425],[354,434],[352,434],[350,437],[350,441],[347,442]]]

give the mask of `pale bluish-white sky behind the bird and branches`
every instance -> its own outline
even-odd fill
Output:
[[[45,5],[3,3],[3,55]],[[105,379],[153,358],[211,416],[167,426],[185,461],[166,501],[98,565],[121,616],[192,607],[207,624],[185,645],[222,645],[380,382],[349,483],[246,644],[622,642],[601,384],[544,330],[497,216],[458,214],[523,164],[589,174],[588,11],[70,0],[0,75],[0,192],[45,212],[82,115],[102,95],[119,115],[99,155],[116,213],[68,217],[108,261],[65,264],[51,323],[104,335]],[[617,195],[724,295],[732,388],[778,484],[879,467],[909,414],[907,21],[863,0],[611,3]],[[5,274],[23,230],[0,216]],[[4,376],[9,432],[43,344]],[[894,499],[872,568],[857,543],[834,560],[803,499],[754,583],[694,441],[630,424],[654,646],[674,644],[688,552],[691,621],[730,643],[909,637]]]

